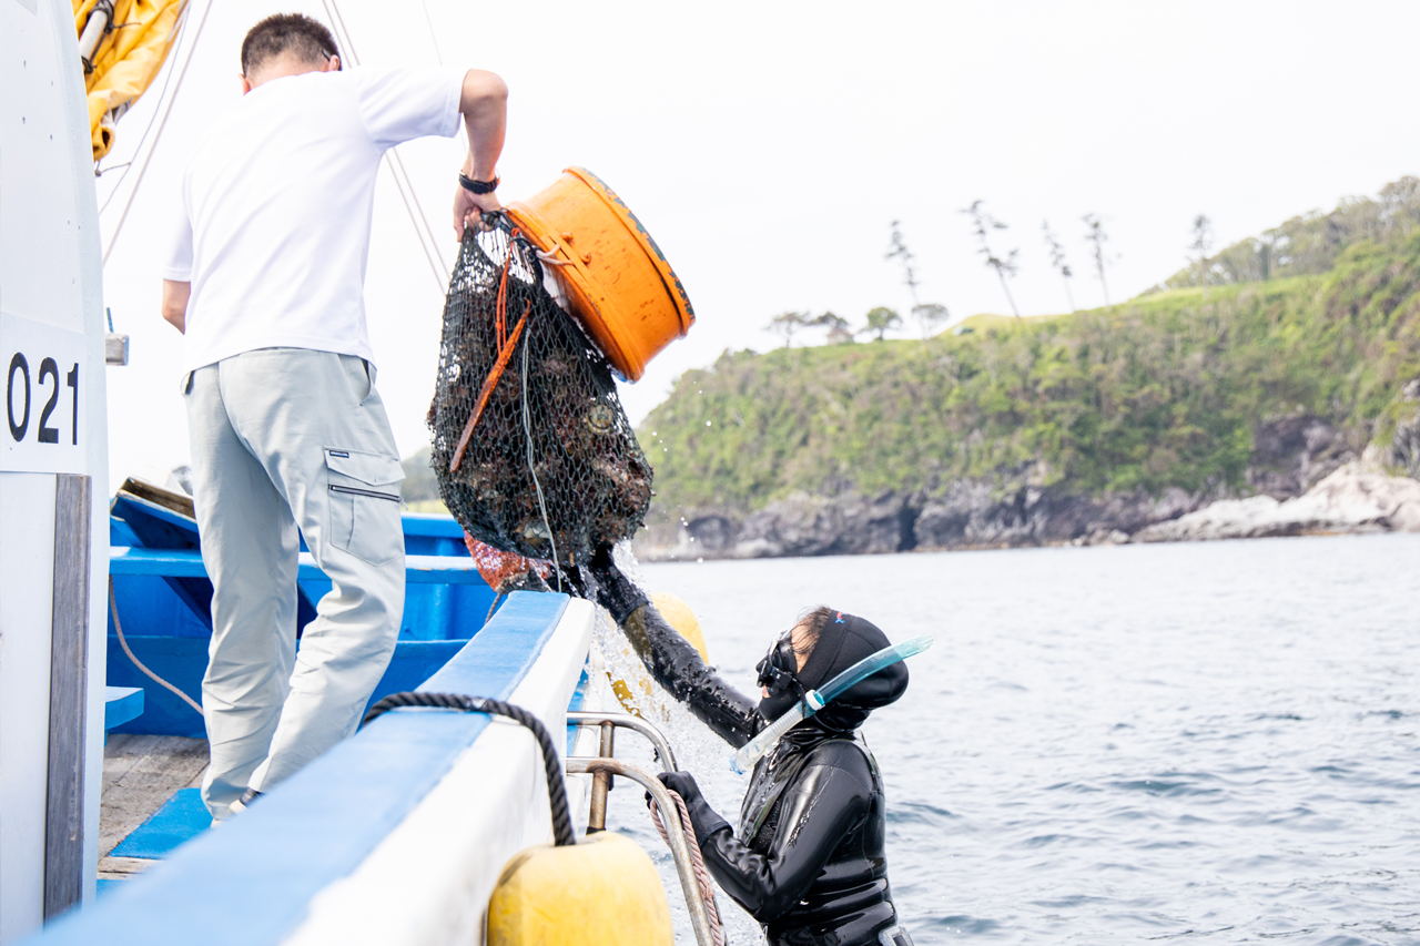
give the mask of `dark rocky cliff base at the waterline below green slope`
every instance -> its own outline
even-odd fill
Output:
[[[1342,430],[1316,416],[1265,420],[1257,425],[1252,439],[1255,446],[1245,482],[1271,507],[1304,496],[1356,459]],[[1086,497],[1061,486],[1032,484],[1030,479],[1027,470],[1015,477],[953,480],[934,493],[794,493],[748,516],[699,509],[683,523],[653,526],[643,533],[638,555],[650,561],[684,561],[1106,544],[1135,535],[1140,541],[1167,541],[1200,535],[1187,530],[1150,533],[1150,527],[1186,518],[1234,496],[1227,489],[1190,493],[1172,487],[1157,494],[1132,490]],[[1420,483],[1416,486],[1420,489]],[[1366,521],[1373,524],[1375,517]],[[1292,526],[1277,528],[1264,534],[1306,531]]]

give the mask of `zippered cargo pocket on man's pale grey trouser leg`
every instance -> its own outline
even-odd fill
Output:
[[[325,450],[331,545],[383,565],[405,551],[399,517],[399,460],[359,450]]]

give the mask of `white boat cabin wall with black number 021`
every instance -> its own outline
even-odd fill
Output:
[[[0,945],[94,896],[108,443],[74,11],[0,0]]]

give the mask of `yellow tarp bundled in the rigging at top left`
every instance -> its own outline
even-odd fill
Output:
[[[98,0],[72,0],[74,28],[84,33]],[[114,0],[114,30],[94,51],[88,89],[94,161],[114,146],[114,109],[138,99],[168,58],[187,0]]]

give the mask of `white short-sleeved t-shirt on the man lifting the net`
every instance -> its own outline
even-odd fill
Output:
[[[257,348],[373,361],[365,331],[386,148],[459,129],[463,70],[307,72],[251,89],[197,146],[163,278],[192,283],[183,371]]]

